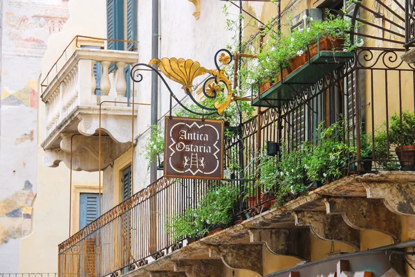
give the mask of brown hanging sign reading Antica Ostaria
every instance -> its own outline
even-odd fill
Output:
[[[165,177],[222,179],[223,120],[165,119]]]

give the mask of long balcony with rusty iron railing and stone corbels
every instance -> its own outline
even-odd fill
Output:
[[[396,113],[394,120],[403,122],[407,120],[404,111],[415,111],[413,69],[401,62],[392,66],[396,60],[387,58],[401,52],[360,49],[353,62],[331,78],[319,80],[296,102],[283,109],[263,110],[239,126],[240,132],[227,139],[224,147],[224,165],[233,168],[232,179],[225,181],[239,192],[232,208],[235,226],[196,242],[185,236],[177,239],[174,231],[167,232],[167,222],[197,207],[209,190],[223,183],[161,178],[59,244],[60,276],[120,276],[129,271],[129,276],[166,276],[165,271],[180,271],[176,275],[184,276],[183,272],[203,265],[212,265],[216,273],[187,276],[223,276],[223,267],[264,276],[270,272],[258,266],[263,247],[276,255],[310,261],[311,235],[349,244],[351,252],[360,250],[359,230],[376,230],[401,240],[400,216],[415,215],[415,174],[400,167],[392,146],[392,139],[405,138],[393,138],[387,126],[391,115]],[[362,77],[365,81],[360,79],[359,85],[356,78]],[[264,145],[284,142],[290,154],[304,141],[315,147],[317,127],[339,122],[345,127],[336,142],[356,146],[356,153],[344,155],[348,161],[339,169],[341,174],[318,188],[288,193],[282,207],[271,206],[284,195],[284,184],[275,181],[266,188],[248,178],[261,178],[257,157]],[[386,128],[385,152],[378,149],[375,136],[362,136],[376,134],[381,127]],[[404,125],[395,127],[401,129],[395,133],[404,133]],[[363,145],[362,137],[371,138],[371,145]],[[293,238],[295,243],[287,243]]]

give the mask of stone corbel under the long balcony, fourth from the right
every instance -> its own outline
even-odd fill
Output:
[[[264,242],[275,255],[311,260],[310,229],[249,229],[250,242]]]

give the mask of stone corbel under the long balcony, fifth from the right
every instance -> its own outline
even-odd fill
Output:
[[[262,276],[262,244],[221,244],[209,246],[210,258],[221,258],[230,269],[248,269]]]

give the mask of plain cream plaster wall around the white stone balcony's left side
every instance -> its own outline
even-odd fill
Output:
[[[38,61],[39,73],[50,67],[75,35],[104,37],[105,4],[101,0],[71,0],[69,18],[59,33],[51,35],[47,50]],[[68,53],[69,54],[69,53]],[[42,66],[41,66],[42,65]],[[43,76],[44,74],[42,74]],[[43,80],[43,77],[40,78]],[[57,168],[43,165],[46,138],[45,104],[38,93],[37,198],[33,208],[33,229],[21,240],[20,272],[57,272],[57,245],[69,237],[69,169],[62,163]],[[79,231],[79,193],[98,193],[98,172],[73,172],[71,233]]]

